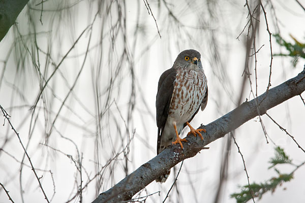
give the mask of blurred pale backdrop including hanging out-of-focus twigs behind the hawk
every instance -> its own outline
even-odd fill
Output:
[[[158,80],[181,51],[201,53],[208,80],[207,107],[191,123],[196,128],[264,93],[269,82],[272,88],[300,73],[305,60],[285,56],[287,50],[273,36],[305,43],[305,1],[261,4],[30,0],[0,43],[0,105],[11,116],[48,199],[91,202],[156,156]],[[267,113],[305,147],[300,96]],[[0,182],[15,202],[45,202],[16,134],[4,117],[1,123]],[[166,202],[236,202],[230,195],[248,179],[227,137],[184,161]],[[293,163],[278,166],[281,173],[300,165],[292,180],[256,201],[305,201],[305,153],[285,131],[263,115],[235,130],[234,137],[250,184],[279,175],[268,169],[275,147]],[[134,197],[160,191],[145,202],[162,202],[179,167],[172,168],[166,183],[152,182]],[[9,201],[0,188],[0,202]]]

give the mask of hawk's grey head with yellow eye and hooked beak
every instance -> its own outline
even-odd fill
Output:
[[[184,50],[177,56],[174,66],[192,70],[202,69],[201,55],[194,49]]]

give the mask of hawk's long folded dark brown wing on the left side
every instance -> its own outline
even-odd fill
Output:
[[[158,92],[156,96],[156,117],[158,126],[158,142],[157,153],[159,154],[159,148],[161,144],[161,136],[165,127],[165,123],[168,117],[170,103],[174,92],[174,83],[176,79],[176,70],[171,68],[165,71],[158,83]]]

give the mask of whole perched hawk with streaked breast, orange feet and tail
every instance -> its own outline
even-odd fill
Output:
[[[199,111],[203,111],[207,104],[207,81],[200,61],[200,53],[196,50],[184,50],[177,56],[171,69],[165,71],[158,83],[156,98],[158,143],[157,154],[171,144],[179,143],[183,149],[179,134],[187,125],[191,131],[198,134],[205,129],[194,129],[190,122]],[[156,179],[165,182],[166,175]]]

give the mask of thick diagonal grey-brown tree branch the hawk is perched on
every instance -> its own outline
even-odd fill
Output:
[[[184,151],[180,149],[179,145],[168,147],[158,156],[141,165],[136,171],[112,188],[101,193],[93,202],[120,202],[131,199],[133,195],[146,185],[166,173],[169,168],[184,159],[195,156],[207,144],[224,137],[228,132],[258,116],[258,112],[263,115],[272,107],[283,103],[283,101],[293,96],[301,94],[305,90],[304,76],[305,71],[302,71],[298,76],[269,89],[268,92],[257,97],[258,103],[256,103],[255,99],[246,101],[216,121],[206,126],[200,126],[200,128],[204,127],[207,131],[207,133],[203,134],[203,142],[200,139],[196,140],[194,136],[190,136],[187,138],[188,142],[184,143]],[[259,111],[257,110],[256,104],[259,104]]]

